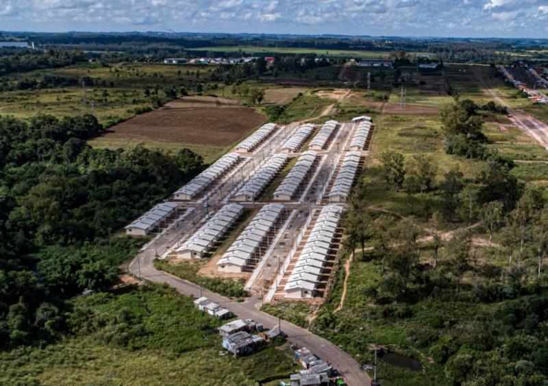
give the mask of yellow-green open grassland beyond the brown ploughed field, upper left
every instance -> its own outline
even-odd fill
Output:
[[[164,64],[82,64],[66,68],[10,74],[9,81],[65,77],[77,79],[77,86],[18,90],[0,94],[0,114],[20,118],[38,113],[55,116],[94,114],[103,124],[131,118],[136,109],[151,107],[152,96],[145,89],[188,86],[190,81],[206,77],[211,68],[169,66]],[[82,79],[86,77],[85,103]],[[198,77],[198,78],[197,78]]]

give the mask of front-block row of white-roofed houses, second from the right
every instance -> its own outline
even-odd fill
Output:
[[[288,210],[282,204],[267,204],[217,262],[221,272],[245,272],[255,268],[266,253],[276,233],[287,219]]]

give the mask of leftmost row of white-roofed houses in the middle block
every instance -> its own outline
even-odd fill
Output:
[[[173,194],[177,200],[192,200],[203,192],[208,186],[223,177],[230,169],[238,163],[240,156],[236,153],[228,153],[219,158],[212,166],[203,170],[189,183]]]

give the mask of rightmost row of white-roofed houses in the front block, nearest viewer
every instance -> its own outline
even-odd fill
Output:
[[[325,281],[325,269],[332,263],[332,244],[338,237],[343,207],[326,205],[314,223],[310,236],[284,286],[286,298],[314,298]]]

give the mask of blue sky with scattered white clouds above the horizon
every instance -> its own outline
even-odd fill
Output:
[[[0,30],[548,38],[548,0],[0,0]]]

